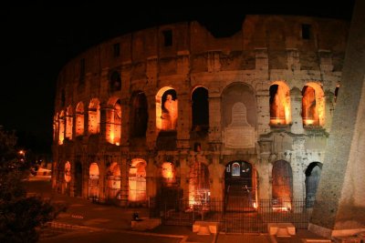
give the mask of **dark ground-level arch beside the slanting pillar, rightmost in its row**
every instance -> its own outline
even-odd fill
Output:
[[[313,208],[321,172],[322,172],[322,164],[319,162],[310,163],[306,169],[307,208]]]

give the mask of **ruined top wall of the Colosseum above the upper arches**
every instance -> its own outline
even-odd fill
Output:
[[[308,37],[303,36],[303,25],[309,26]],[[101,91],[100,80],[111,69],[118,69],[124,81],[146,79],[147,61],[152,59],[158,62],[157,76],[176,75],[178,56],[189,57],[187,68],[193,74],[209,71],[209,54],[218,56],[222,71],[254,70],[255,50],[263,48],[268,69],[290,69],[287,52],[295,50],[301,70],[319,71],[320,58],[325,57],[332,71],[340,71],[348,29],[349,23],[343,20],[290,15],[246,15],[241,31],[224,38],[215,38],[198,22],[156,26],[112,38],[73,58],[60,72],[57,90],[72,90],[70,86],[78,83],[81,59],[87,86],[96,94]],[[172,33],[171,46],[164,43],[165,31]],[[116,44],[120,56],[113,56]]]

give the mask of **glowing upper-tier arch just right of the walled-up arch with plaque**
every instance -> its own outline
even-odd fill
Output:
[[[287,125],[291,122],[289,87],[281,81],[270,86],[270,125]]]

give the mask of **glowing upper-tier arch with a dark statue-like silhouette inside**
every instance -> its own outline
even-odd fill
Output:
[[[156,127],[162,131],[176,129],[178,100],[176,91],[169,86],[160,89],[156,95]]]

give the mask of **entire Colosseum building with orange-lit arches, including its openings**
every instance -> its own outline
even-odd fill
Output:
[[[348,34],[246,15],[229,37],[193,21],[89,48],[57,78],[52,187],[120,207],[310,211]]]

